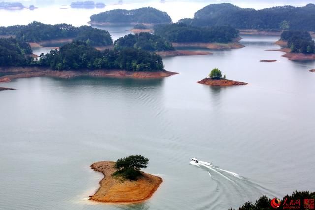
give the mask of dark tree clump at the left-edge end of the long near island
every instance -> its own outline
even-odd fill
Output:
[[[0,66],[26,66],[32,61],[29,44],[13,38],[0,39]]]

